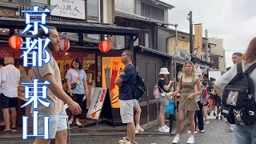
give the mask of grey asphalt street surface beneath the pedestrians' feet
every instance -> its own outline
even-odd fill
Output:
[[[180,136],[180,144],[185,144],[187,138],[190,137],[190,134],[186,133],[188,130],[188,126],[182,130],[182,134]],[[205,133],[195,134],[195,143],[197,144],[232,144],[234,143],[233,133],[226,131],[226,123],[222,120],[211,119],[210,124],[205,125]],[[122,138],[122,136],[110,136],[110,137],[94,137],[94,138],[73,138],[71,139],[71,144],[118,144],[118,140]],[[167,144],[171,143],[174,136],[167,136],[167,134],[163,134],[162,136],[157,135],[137,135],[137,142],[139,144]],[[32,141],[0,141],[0,144],[30,144]]]

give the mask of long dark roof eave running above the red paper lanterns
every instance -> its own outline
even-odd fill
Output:
[[[0,17],[0,26],[4,28],[14,28],[23,30],[26,26],[24,18]],[[84,34],[110,34],[110,35],[134,35],[150,33],[149,30],[140,30],[132,27],[115,26],[94,22],[62,22],[47,21],[47,26],[55,26],[58,32],[71,32]]]

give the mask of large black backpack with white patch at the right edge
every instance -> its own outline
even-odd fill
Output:
[[[255,67],[256,63],[243,72],[242,62],[239,62],[237,74],[223,90],[222,115],[231,124],[250,126],[256,122],[254,84],[250,78],[250,73]]]

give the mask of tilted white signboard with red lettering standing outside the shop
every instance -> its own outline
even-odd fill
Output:
[[[101,114],[103,102],[106,97],[106,88],[96,87],[94,90],[93,98],[90,102],[90,108],[86,117],[98,120],[99,114]]]

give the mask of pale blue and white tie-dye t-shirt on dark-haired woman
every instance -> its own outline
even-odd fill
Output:
[[[74,82],[78,83],[78,85],[73,90],[74,94],[85,94],[85,89],[83,86],[83,80],[86,79],[85,70],[70,69],[66,72],[66,79],[69,79],[70,83],[74,83]]]

